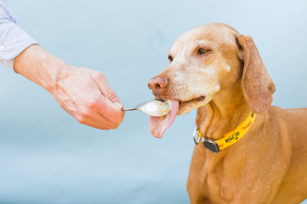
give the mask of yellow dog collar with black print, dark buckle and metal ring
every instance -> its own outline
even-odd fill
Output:
[[[202,140],[204,146],[207,149],[217,154],[222,149],[225,149],[226,147],[236,143],[239,139],[241,139],[250,129],[253,122],[255,121],[255,118],[256,114],[251,112],[248,117],[241,124],[239,124],[239,126],[237,126],[234,131],[227,133],[222,139],[219,140],[213,140],[211,138],[203,137],[198,127],[196,127],[193,133],[194,142],[195,144],[198,144],[200,140]]]

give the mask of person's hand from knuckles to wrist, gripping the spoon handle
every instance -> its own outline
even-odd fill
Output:
[[[50,93],[82,124],[109,130],[116,129],[123,120],[123,106],[99,71],[67,65]]]

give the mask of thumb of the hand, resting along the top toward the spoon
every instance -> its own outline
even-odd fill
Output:
[[[108,98],[118,109],[123,108],[120,99],[117,97],[113,89],[109,86],[107,79],[103,73],[95,72],[94,76],[92,76],[92,79],[97,84],[102,95]]]

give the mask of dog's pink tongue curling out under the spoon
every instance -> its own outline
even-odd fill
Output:
[[[162,138],[163,133],[171,125],[171,123],[175,120],[178,109],[179,109],[179,101],[171,100],[170,101],[170,111],[168,114],[162,117],[153,117],[149,118],[149,130],[150,133],[158,138]]]

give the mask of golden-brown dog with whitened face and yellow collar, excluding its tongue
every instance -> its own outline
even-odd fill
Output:
[[[182,34],[168,59],[148,87],[157,99],[178,101],[177,115],[198,109],[195,143],[204,145],[195,145],[192,155],[191,203],[303,201],[307,109],[271,106],[275,85],[253,39],[208,23]],[[247,132],[225,138],[238,127]],[[222,148],[222,140],[235,142]]]

